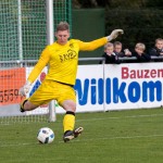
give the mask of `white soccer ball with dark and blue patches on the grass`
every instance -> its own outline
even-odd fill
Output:
[[[48,127],[42,127],[37,134],[37,139],[40,143],[51,143],[54,140],[54,133]]]

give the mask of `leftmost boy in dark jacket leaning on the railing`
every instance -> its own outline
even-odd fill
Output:
[[[112,63],[116,63],[118,64],[118,57],[114,53],[114,46],[111,42],[108,42],[104,46],[104,53],[103,55],[105,58],[105,64],[112,64]],[[102,63],[102,61],[100,61],[100,64]]]

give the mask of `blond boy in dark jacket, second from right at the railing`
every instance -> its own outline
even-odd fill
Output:
[[[146,46],[145,43],[138,42],[135,46],[135,51],[133,52],[133,57],[137,58],[136,62],[149,62],[150,55],[145,53]]]

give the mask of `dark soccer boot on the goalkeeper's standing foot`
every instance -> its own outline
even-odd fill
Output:
[[[74,138],[77,138],[82,133],[83,133],[84,128],[83,127],[78,127],[74,130],[67,130],[65,131],[64,136],[63,136],[63,140],[64,142],[67,142]]]

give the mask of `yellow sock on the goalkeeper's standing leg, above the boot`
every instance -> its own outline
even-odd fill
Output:
[[[75,126],[75,115],[73,114],[65,114],[63,118],[63,130],[73,130]]]

